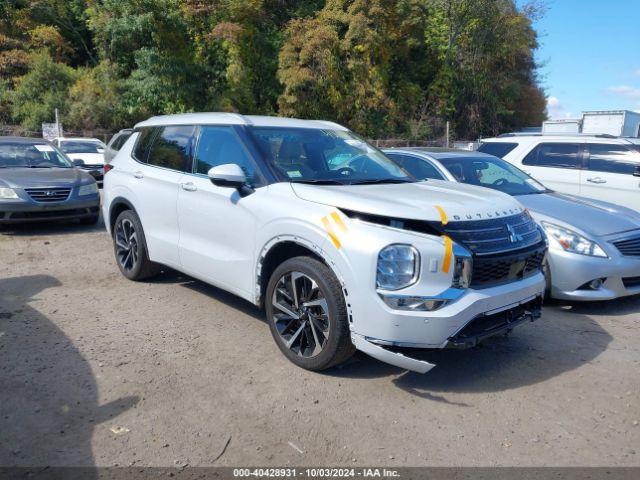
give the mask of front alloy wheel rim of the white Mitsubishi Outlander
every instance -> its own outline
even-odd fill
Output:
[[[300,357],[315,357],[329,339],[329,307],[317,282],[301,272],[287,272],[272,297],[272,321],[284,345]]]

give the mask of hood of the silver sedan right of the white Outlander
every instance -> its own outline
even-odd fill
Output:
[[[561,193],[520,195],[520,203],[538,221],[554,219],[595,236],[640,229],[640,214],[612,203]]]

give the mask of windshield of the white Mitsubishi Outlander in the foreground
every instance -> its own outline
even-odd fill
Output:
[[[280,181],[339,185],[415,181],[351,132],[281,127],[249,131]]]

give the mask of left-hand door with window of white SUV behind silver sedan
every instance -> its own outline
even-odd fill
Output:
[[[547,188],[577,195],[583,164],[583,142],[542,142],[522,160],[522,170]]]

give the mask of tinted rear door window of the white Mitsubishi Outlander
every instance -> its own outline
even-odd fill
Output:
[[[191,165],[191,144],[196,127],[163,127],[149,152],[149,165],[186,172]]]

